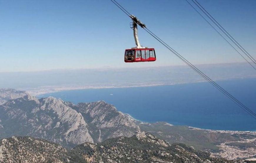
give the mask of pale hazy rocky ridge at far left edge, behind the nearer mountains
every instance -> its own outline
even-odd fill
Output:
[[[11,88],[0,89],[0,105],[8,100],[16,99],[27,95],[26,91],[15,90]]]

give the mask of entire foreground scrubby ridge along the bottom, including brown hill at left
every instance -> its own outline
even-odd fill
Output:
[[[243,162],[238,160],[235,162]],[[184,144],[172,144],[146,132],[101,143],[83,143],[73,149],[33,137],[0,140],[0,162],[227,162],[211,158]],[[233,162],[233,161],[229,161]]]

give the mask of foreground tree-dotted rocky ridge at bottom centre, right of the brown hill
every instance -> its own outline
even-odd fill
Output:
[[[196,151],[184,144],[170,145],[164,140],[137,132],[132,137],[118,137],[98,144],[84,143],[75,147],[88,162],[225,162],[210,158],[207,152]]]

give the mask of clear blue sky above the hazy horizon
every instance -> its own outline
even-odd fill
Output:
[[[255,0],[198,1],[256,58]],[[185,0],[118,2],[193,64],[244,62]],[[0,72],[183,65],[141,28],[157,61],[124,63],[131,20],[110,0],[0,0],[0,21]]]

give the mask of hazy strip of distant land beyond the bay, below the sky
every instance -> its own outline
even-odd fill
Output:
[[[213,80],[255,78],[247,63],[197,65]],[[205,82],[188,66],[106,68],[0,73],[1,88],[26,90],[41,95],[62,90],[121,88]]]

